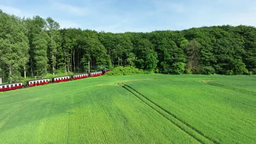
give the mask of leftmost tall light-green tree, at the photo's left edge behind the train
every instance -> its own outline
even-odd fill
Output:
[[[9,81],[18,81],[20,68],[25,67],[29,50],[25,27],[20,18],[0,10],[0,62],[8,68]],[[3,71],[3,70],[2,70]]]

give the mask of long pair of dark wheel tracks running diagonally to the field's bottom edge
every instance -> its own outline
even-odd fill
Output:
[[[171,122],[172,124],[176,125],[179,129],[184,131],[184,133],[188,134],[189,136],[193,137],[196,141],[200,143],[216,143],[218,144],[216,140],[211,139],[210,137],[204,135],[201,131],[197,130],[196,128],[192,127],[190,124],[182,121],[182,119],[178,118],[176,115],[173,113],[167,111],[160,105],[156,104],[154,101],[150,100],[148,97],[145,95],[141,94],[140,92],[136,91],[136,89],[132,88],[131,86],[125,85],[124,83],[118,83],[121,87],[126,89],[126,91],[129,91],[135,97],[137,97],[139,100],[141,100],[144,104],[148,105],[151,109],[159,113],[159,115],[163,116],[164,118],[167,119],[167,121]],[[151,104],[151,105],[150,105]],[[159,110],[158,110],[159,109]],[[167,115],[167,116],[166,116]],[[169,117],[168,117],[169,116]],[[171,118],[170,118],[171,117]],[[177,122],[175,122],[177,121]],[[193,132],[195,134],[193,134]],[[203,138],[200,139],[197,136],[200,136]]]

